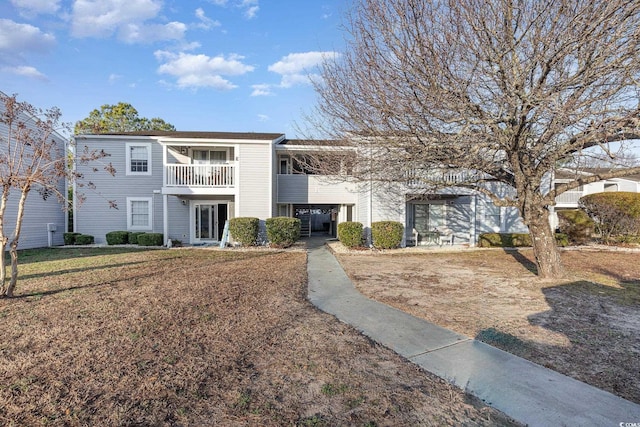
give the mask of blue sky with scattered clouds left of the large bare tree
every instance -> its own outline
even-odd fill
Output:
[[[343,50],[349,0],[0,0],[0,90],[75,123],[131,103],[178,130],[283,132]]]

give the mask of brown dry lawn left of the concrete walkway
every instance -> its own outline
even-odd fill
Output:
[[[303,252],[28,255],[0,424],[512,424],[313,308]]]

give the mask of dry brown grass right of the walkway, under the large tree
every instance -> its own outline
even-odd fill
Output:
[[[338,257],[371,298],[640,403],[640,252],[564,251],[559,281],[526,249]]]

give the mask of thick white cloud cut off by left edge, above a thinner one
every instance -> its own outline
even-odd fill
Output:
[[[0,57],[47,52],[55,42],[56,38],[52,34],[43,33],[38,27],[0,19]]]

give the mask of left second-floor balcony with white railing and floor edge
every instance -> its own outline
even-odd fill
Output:
[[[165,165],[164,194],[233,194],[236,163]]]

